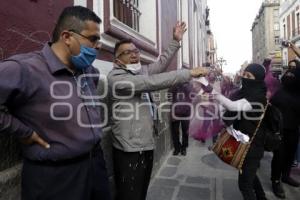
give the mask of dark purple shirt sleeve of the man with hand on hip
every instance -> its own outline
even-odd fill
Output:
[[[26,92],[26,79],[28,74],[17,62],[0,63],[0,134],[26,138],[33,133],[31,128],[9,112],[14,97]]]

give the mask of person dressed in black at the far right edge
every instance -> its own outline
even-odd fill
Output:
[[[274,194],[285,198],[281,182],[293,187],[300,186],[300,183],[290,175],[297,151],[300,125],[300,62],[298,60],[289,62],[289,69],[282,76],[281,85],[282,87],[271,99],[271,103],[281,111],[283,119],[282,145],[273,154],[271,180]]]

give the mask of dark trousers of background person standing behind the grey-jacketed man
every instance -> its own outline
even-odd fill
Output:
[[[189,145],[189,135],[188,135],[188,130],[189,130],[189,120],[175,120],[172,122],[172,140],[173,140],[173,145],[174,149],[177,151],[180,151],[181,149],[185,149]],[[181,141],[180,143],[179,136],[180,136],[180,124],[181,124]]]

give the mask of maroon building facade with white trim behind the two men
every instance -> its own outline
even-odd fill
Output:
[[[66,6],[82,5],[92,9],[102,19],[102,50],[94,63],[102,76],[111,70],[113,48],[122,38],[131,38],[141,49],[143,63],[153,62],[172,40],[173,26],[178,20],[188,25],[182,48],[168,70],[192,68],[207,62],[207,5],[206,0],[11,0],[0,7],[0,60],[18,53],[39,50],[51,41],[58,15]],[[104,91],[99,87],[99,92]],[[167,101],[166,91],[156,94],[155,101]],[[104,102],[107,99],[103,99]],[[156,138],[154,173],[172,148],[168,113],[160,121]],[[104,128],[102,146],[112,180],[110,127]],[[11,136],[0,135],[0,200],[18,199],[20,190],[21,156],[18,142]]]

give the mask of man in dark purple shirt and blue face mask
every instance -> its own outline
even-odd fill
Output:
[[[22,141],[22,199],[109,200],[99,145],[98,72],[101,19],[67,7],[41,51],[0,63],[0,133]]]

